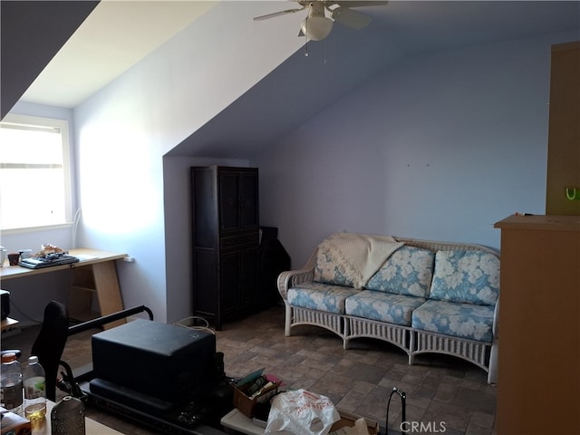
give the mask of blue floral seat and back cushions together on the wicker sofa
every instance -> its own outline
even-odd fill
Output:
[[[484,251],[403,246],[354,288],[342,266],[319,250],[314,282],[290,288],[287,302],[333,314],[411,326],[480,343],[493,340],[499,258]]]

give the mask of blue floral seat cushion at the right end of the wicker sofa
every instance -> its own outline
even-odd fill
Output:
[[[431,333],[489,343],[493,339],[491,305],[428,300],[412,314],[412,327]]]

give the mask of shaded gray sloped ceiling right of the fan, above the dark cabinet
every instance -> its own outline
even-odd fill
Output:
[[[360,11],[373,16],[369,27],[334,24],[307,57],[298,50],[169,155],[251,158],[404,56],[580,29],[580,2],[395,1]]]

